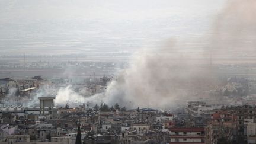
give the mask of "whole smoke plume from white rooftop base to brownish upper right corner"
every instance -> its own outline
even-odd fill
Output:
[[[205,92],[218,85],[216,73],[210,67],[221,59],[239,59],[254,56],[256,46],[256,1],[228,1],[217,16],[208,45],[202,53],[193,56],[184,52],[186,47],[170,40],[156,50],[137,52],[130,67],[120,72],[108,85],[105,94],[83,97],[70,87],[60,89],[56,103],[67,100],[119,103],[132,107],[175,107],[181,101],[204,97]],[[205,41],[204,41],[205,42]],[[196,59],[195,59],[196,57]],[[207,64],[207,65],[202,65]]]

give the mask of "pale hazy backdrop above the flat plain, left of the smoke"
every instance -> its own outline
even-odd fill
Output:
[[[223,0],[1,0],[0,55],[135,52],[207,33]]]

